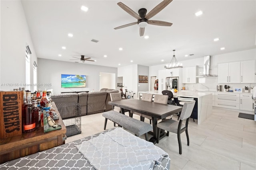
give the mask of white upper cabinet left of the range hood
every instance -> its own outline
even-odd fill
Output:
[[[182,83],[197,83],[196,74],[196,66],[182,68]]]

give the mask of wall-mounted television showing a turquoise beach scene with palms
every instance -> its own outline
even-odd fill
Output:
[[[61,74],[61,87],[86,87],[85,75]]]

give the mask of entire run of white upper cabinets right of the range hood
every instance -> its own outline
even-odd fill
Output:
[[[255,83],[255,60],[218,64],[218,83]]]

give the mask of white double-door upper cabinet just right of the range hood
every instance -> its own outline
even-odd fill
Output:
[[[218,64],[218,83],[240,83],[240,61]]]

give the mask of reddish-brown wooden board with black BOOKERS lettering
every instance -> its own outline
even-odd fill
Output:
[[[0,92],[0,139],[22,134],[22,91]]]

